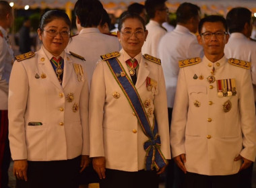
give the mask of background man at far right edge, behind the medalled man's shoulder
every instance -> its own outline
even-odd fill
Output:
[[[228,23],[228,32],[230,39],[224,48],[227,58],[238,58],[251,62],[251,76],[253,79],[253,90],[256,93],[256,42],[250,40],[253,30],[253,20],[251,11],[244,7],[231,9],[226,15]],[[254,95],[256,99],[256,95]],[[241,172],[241,186],[251,187],[251,178],[253,175],[253,165]]]

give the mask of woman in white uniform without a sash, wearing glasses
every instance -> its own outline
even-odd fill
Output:
[[[77,187],[88,165],[88,81],[82,57],[64,51],[70,29],[66,13],[47,11],[38,28],[42,48],[13,64],[9,141],[17,187]]]

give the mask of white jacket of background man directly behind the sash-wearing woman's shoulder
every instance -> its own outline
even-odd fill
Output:
[[[142,46],[141,52],[142,54],[150,54],[159,58],[158,45],[162,36],[166,34],[166,30],[164,30],[158,22],[152,19],[150,19],[146,29],[148,30],[148,36],[146,42],[144,42]]]

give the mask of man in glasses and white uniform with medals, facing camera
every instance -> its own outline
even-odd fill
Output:
[[[238,171],[256,156],[250,63],[224,56],[226,20],[199,22],[205,56],[179,62],[170,144],[185,187],[239,187]]]

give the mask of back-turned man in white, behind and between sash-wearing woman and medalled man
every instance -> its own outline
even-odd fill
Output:
[[[162,37],[158,47],[164,70],[169,125],[172,119],[172,107],[179,75],[179,60],[203,57],[203,47],[198,44],[195,36],[200,21],[199,13],[200,8],[197,5],[182,3],[176,12],[176,28],[173,32],[168,32]],[[166,171],[166,187],[181,185],[184,179],[183,173],[177,168],[173,160],[170,161],[168,167]]]

